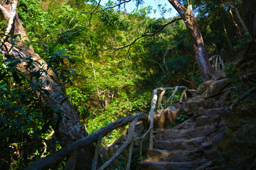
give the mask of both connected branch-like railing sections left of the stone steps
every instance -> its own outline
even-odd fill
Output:
[[[156,108],[156,101],[157,101],[157,92],[162,91],[160,96],[159,96],[159,102],[158,106],[161,106],[161,101],[162,98],[165,94],[166,91],[174,90],[174,92],[171,94],[169,97],[168,101],[171,100],[171,103],[173,101],[173,98],[176,94],[176,91],[178,89],[183,89],[183,92],[181,94],[181,98],[179,102],[182,102],[183,97],[186,97],[186,91],[188,88],[186,86],[175,86],[175,87],[166,87],[166,88],[156,88],[153,91],[153,97],[151,100],[151,110],[150,110],[150,115],[144,114],[144,113],[137,113],[135,115],[129,115],[127,117],[121,118],[119,120],[114,121],[114,123],[110,123],[109,125],[106,125],[103,128],[100,128],[100,130],[97,130],[96,132],[92,133],[91,135],[88,135],[87,137],[84,137],[80,140],[77,140],[73,142],[72,144],[68,145],[68,147],[65,147],[63,149],[60,149],[58,152],[55,152],[54,154],[50,154],[50,156],[44,158],[44,159],[37,159],[36,161],[31,164],[31,166],[27,170],[32,170],[32,169],[48,169],[55,164],[58,164],[61,160],[63,160],[65,157],[69,157],[65,169],[68,170],[73,170],[75,169],[75,160],[76,160],[76,151],[78,149],[81,149],[85,147],[86,145],[90,145],[93,142],[96,142],[96,147],[95,147],[95,155],[92,161],[92,170],[97,169],[97,160],[100,154],[100,144],[102,141],[102,137],[105,137],[108,133],[112,132],[112,130],[117,129],[119,127],[122,127],[124,125],[129,124],[129,129],[128,129],[128,135],[127,139],[125,140],[124,144],[117,150],[117,152],[107,161],[105,164],[102,164],[97,170],[103,170],[107,166],[109,166],[114,159],[116,159],[119,154],[124,152],[124,149],[129,150],[129,155],[128,155],[128,160],[127,160],[127,170],[130,169],[130,164],[131,164],[131,159],[132,159],[132,149],[134,142],[136,140],[141,140],[140,141],[140,157],[142,159],[142,142],[146,135],[149,134],[149,149],[153,149],[153,125],[154,125],[154,111]],[[167,102],[168,102],[167,101]],[[166,102],[166,103],[167,103]],[[137,121],[142,120],[143,123],[146,124],[146,126],[149,123],[149,129],[142,135],[142,137],[134,137],[134,131],[135,127],[137,125]],[[148,127],[148,126],[147,126]]]

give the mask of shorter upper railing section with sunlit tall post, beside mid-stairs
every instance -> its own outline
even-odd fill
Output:
[[[178,89],[184,89],[182,94],[181,94],[181,98],[179,100],[179,102],[182,102],[182,99],[183,99],[184,96],[186,96],[186,91],[188,90],[188,88],[186,88],[186,86],[156,88],[153,91],[153,98],[151,100],[151,109],[150,109],[150,121],[149,121],[149,149],[153,149],[153,125],[154,125],[154,111],[155,111],[155,108],[156,108],[156,101],[157,101],[157,92],[162,91],[160,96],[159,96],[159,102],[158,102],[158,107],[161,107],[161,101],[164,97],[165,92],[170,91],[170,90],[174,90],[173,94],[171,94],[169,99],[166,101],[166,103],[167,103],[169,100],[171,100],[171,104],[172,104],[173,99],[174,99],[174,95],[176,94],[176,91],[178,91]]]

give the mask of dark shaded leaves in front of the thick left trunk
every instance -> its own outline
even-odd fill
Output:
[[[5,162],[1,166],[5,169],[24,169],[33,160],[56,152],[58,142],[53,137],[50,140],[45,138],[51,132],[53,115],[61,118],[61,113],[42,98],[49,95],[44,86],[48,82],[40,79],[48,69],[36,69],[31,74],[16,69],[21,62],[26,62],[24,69],[38,68],[38,62],[33,61],[31,56],[0,62],[0,157]],[[42,103],[46,106],[42,107]]]

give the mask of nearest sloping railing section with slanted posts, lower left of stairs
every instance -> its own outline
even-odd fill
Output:
[[[92,162],[92,170],[95,170],[97,169],[97,159],[100,154],[100,143],[101,143],[102,137],[105,137],[108,133],[112,132],[112,130],[122,127],[124,125],[127,125],[127,123],[130,123],[127,139],[124,142],[124,144],[117,150],[117,152],[110,158],[110,160],[108,160],[107,162],[105,162],[105,164],[102,164],[102,166],[98,168],[98,169],[105,169],[107,166],[111,164],[111,162],[114,161],[114,159],[116,159],[119,156],[119,154],[121,154],[124,151],[124,149],[129,147],[129,158],[127,161],[127,170],[128,170],[131,164],[132,148],[133,148],[134,141],[144,140],[144,137],[146,136],[146,134],[149,133],[149,130],[148,130],[147,132],[144,133],[142,137],[136,137],[134,139],[133,137],[134,130],[138,120],[142,120],[148,127],[149,118],[144,113],[137,113],[136,115],[130,115],[130,116],[121,118],[115,121],[114,123],[110,123],[109,125],[106,125],[104,128],[100,128],[100,130],[97,130],[91,135],[88,135],[87,137],[84,137],[80,140],[73,142],[72,144],[68,145],[68,147],[60,149],[58,152],[51,154],[50,156],[44,159],[37,159],[35,162],[33,162],[31,167],[28,168],[28,170],[49,169],[50,167],[58,164],[65,157],[69,157],[68,162],[65,166],[65,169],[73,170],[75,169],[76,151],[78,149],[85,148],[86,145],[90,145],[93,142],[96,142],[95,156]],[[142,141],[141,141],[141,147],[142,147]]]

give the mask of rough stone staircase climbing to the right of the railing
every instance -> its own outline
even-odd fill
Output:
[[[175,108],[178,115],[190,118],[174,128],[156,128],[154,149],[149,149],[147,158],[137,169],[197,169],[219,155],[214,147],[221,135],[215,132],[215,127],[220,113],[227,108],[220,101],[208,101],[200,96],[178,103]]]

